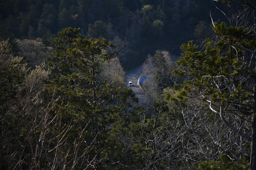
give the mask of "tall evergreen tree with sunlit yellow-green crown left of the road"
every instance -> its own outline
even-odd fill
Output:
[[[110,52],[114,45],[104,38],[85,39],[80,29],[67,28],[54,39],[56,50],[50,57],[49,67],[57,72],[52,75],[52,85],[57,85],[66,104],[74,107],[80,123],[90,122],[91,139],[95,138],[96,157],[93,161],[100,169],[100,133],[108,125],[107,106],[113,100],[113,84],[100,81],[99,64],[116,52]],[[82,122],[81,122],[82,121]]]

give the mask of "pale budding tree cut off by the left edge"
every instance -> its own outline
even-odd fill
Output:
[[[0,112],[1,120],[4,120],[5,112],[12,107],[16,97],[21,95],[20,84],[27,73],[24,58],[12,53],[9,40],[0,42]]]

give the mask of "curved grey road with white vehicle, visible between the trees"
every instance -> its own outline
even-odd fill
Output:
[[[146,95],[144,92],[140,89],[140,86],[138,85],[138,80],[142,74],[142,67],[138,67],[132,71],[130,71],[125,78],[126,88],[131,88],[133,93],[136,95],[136,97],[139,98],[139,105],[146,105]],[[132,86],[129,86],[128,83],[132,82]]]

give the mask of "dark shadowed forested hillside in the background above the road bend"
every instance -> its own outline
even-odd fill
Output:
[[[211,10],[215,20],[223,17],[210,0],[1,0],[0,4],[2,40],[41,38],[45,46],[52,46],[62,28],[81,28],[86,38],[102,36],[116,44],[125,69],[141,65],[156,50],[177,57],[183,43],[204,38],[200,33],[211,30]],[[205,27],[194,37],[199,21]]]

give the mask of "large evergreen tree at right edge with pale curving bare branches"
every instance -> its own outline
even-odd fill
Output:
[[[184,52],[177,61],[181,69],[174,73],[186,81],[181,87],[174,86],[180,93],[171,99],[182,106],[191,100],[198,109],[218,114],[231,131],[252,141],[253,154],[256,150],[255,35],[244,27],[227,27],[216,22],[214,26],[217,40],[207,39],[203,50],[197,50],[192,41],[181,46]]]

